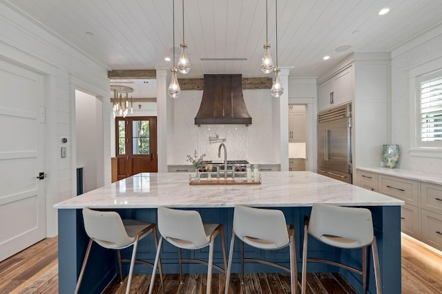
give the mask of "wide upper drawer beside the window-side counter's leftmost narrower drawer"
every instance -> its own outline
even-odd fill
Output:
[[[379,176],[379,193],[404,200],[407,204],[419,206],[419,182],[394,176]]]

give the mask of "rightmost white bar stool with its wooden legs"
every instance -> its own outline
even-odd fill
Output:
[[[362,248],[362,269],[339,262],[307,258],[308,234],[325,244],[343,249]],[[373,233],[372,213],[368,209],[313,204],[310,220],[304,220],[304,246],[302,250],[302,293],[307,286],[307,262],[323,262],[363,275],[363,293],[367,293],[367,246],[372,246],[376,293],[382,293],[378,247]]]

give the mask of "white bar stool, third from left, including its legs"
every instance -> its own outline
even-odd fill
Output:
[[[244,262],[259,262],[276,266],[278,269],[283,269],[290,273],[291,293],[297,293],[298,269],[296,266],[295,229],[293,224],[287,226],[282,211],[276,209],[257,209],[242,205],[235,207],[224,294],[229,293],[235,236],[241,240],[241,273],[244,273]],[[289,246],[290,269],[267,260],[244,258],[244,242],[250,246],[265,250],[276,250]]]

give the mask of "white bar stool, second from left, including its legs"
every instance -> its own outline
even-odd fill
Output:
[[[211,292],[212,268],[215,267],[215,269],[218,269],[222,273],[225,273],[225,269],[227,268],[226,244],[224,242],[224,229],[222,224],[203,223],[198,211],[158,207],[158,231],[160,231],[160,242],[158,243],[159,246],[157,248],[153,273],[155,273],[157,263],[160,260],[161,246],[164,238],[178,248],[181,283],[183,283],[182,262],[198,262],[208,265],[206,293],[209,294]],[[224,269],[213,264],[213,246],[218,233],[221,235]],[[206,246],[209,246],[209,262],[181,258],[181,249],[201,249]],[[152,275],[149,294],[152,293],[154,280],[155,275]]]

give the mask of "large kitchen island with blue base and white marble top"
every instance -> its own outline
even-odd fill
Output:
[[[381,278],[384,293],[401,293],[401,219],[400,207],[403,201],[349,185],[332,178],[320,176],[309,171],[276,171],[261,174],[261,185],[189,185],[189,174],[158,173],[137,174],[119,180],[111,185],[84,193],[55,204],[59,210],[59,293],[73,293],[81,262],[84,258],[88,236],[84,231],[81,209],[113,210],[123,218],[136,218],[146,222],[156,222],[156,209],[159,206],[180,209],[196,209],[206,222],[224,224],[227,246],[231,236],[233,207],[237,204],[252,207],[281,209],[287,223],[296,229],[296,255],[300,270],[302,251],[303,219],[308,216],[311,204],[316,202],[366,207],[372,211],[374,231],[378,242]],[[215,179],[214,179],[215,180]],[[332,258],[349,265],[361,264],[361,251],[334,249],[314,240],[309,253],[312,257]],[[215,258],[222,264],[220,242],[215,242]],[[165,273],[177,273],[177,251],[173,246],[164,244],[162,264]],[[239,242],[236,242],[239,245]],[[240,271],[239,246],[235,247],[233,272]],[[123,252],[123,258],[131,251]],[[184,252],[183,252],[184,253]],[[187,257],[207,258],[207,249],[186,252]],[[184,255],[184,254],[183,254]],[[282,251],[251,249],[244,246],[247,258],[269,258],[274,262],[288,265],[289,255]],[[153,260],[155,246],[152,238],[144,238],[138,247],[137,258]],[[183,256],[186,258],[186,255]],[[200,264],[186,264],[186,272],[206,272]],[[327,264],[309,264],[309,271],[339,271],[361,291],[361,277]],[[127,267],[124,269],[127,271]],[[245,271],[274,271],[261,264],[245,264]],[[82,284],[84,293],[99,293],[113,279],[118,269],[115,252],[93,246]],[[147,266],[136,266],[135,273],[151,273]],[[369,291],[375,292],[372,263],[369,264]]]

